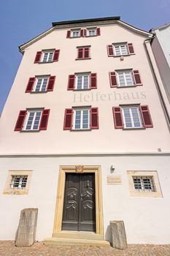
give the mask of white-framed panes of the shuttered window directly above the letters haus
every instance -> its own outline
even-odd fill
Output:
[[[131,69],[117,70],[118,86],[135,86],[134,77]]]

